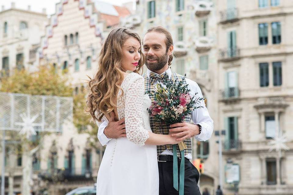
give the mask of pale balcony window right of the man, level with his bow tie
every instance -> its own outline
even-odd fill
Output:
[[[239,96],[238,73],[236,71],[226,72],[225,77],[225,98],[237,98]]]

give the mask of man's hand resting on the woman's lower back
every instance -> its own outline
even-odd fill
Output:
[[[110,113],[110,119],[107,127],[104,130],[104,134],[108,138],[120,138],[126,137],[125,131],[125,119],[121,119],[119,121],[114,121],[115,114],[114,112]]]

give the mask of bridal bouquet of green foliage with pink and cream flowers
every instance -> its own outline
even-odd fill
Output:
[[[146,94],[149,94],[153,99],[152,105],[147,108],[147,111],[158,122],[166,125],[182,122],[194,109],[203,108],[203,106],[196,105],[205,98],[195,98],[197,93],[191,97],[188,84],[184,84],[185,78],[186,74],[179,82],[177,79],[165,79],[163,80],[165,88],[162,87],[161,83],[158,83],[154,91],[146,91]],[[178,145],[180,151],[187,149],[183,141]]]

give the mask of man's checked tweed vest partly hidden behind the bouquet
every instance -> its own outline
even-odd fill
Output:
[[[155,89],[155,85],[152,85],[151,84],[150,79],[147,77],[147,74],[144,74],[143,77],[144,77],[144,88],[145,88],[145,90],[146,91],[147,90],[154,90]],[[177,79],[177,82],[179,82],[183,78],[184,77],[182,75],[179,75],[177,73],[173,73],[172,72],[171,79],[173,81],[175,81],[175,79]],[[186,84],[186,82],[184,84]],[[154,101],[152,98],[151,98],[151,100]],[[187,115],[186,118],[183,121],[184,122],[190,122],[190,120],[191,120],[191,115]],[[152,117],[151,115],[150,115],[150,128],[152,129],[153,133],[156,133],[156,134],[164,134],[164,135],[168,135],[169,134],[169,129],[170,129],[169,126],[167,126],[165,124],[162,124],[160,122],[155,121],[154,117]],[[192,151],[191,151],[191,139],[190,138],[185,139],[184,140],[184,143],[187,146],[187,149],[185,150],[184,156],[186,156],[188,153],[192,154]],[[172,147],[171,144],[157,146],[157,156],[159,156],[166,149],[168,149],[169,151],[173,152],[173,147]],[[179,158],[181,158],[181,154],[180,154],[178,145],[177,145],[177,156]]]

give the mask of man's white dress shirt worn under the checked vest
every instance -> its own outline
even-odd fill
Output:
[[[147,76],[149,78],[150,78],[151,72],[152,71],[147,69]],[[171,79],[172,72],[171,72],[170,67],[168,68],[168,70],[166,72],[169,75],[169,79]],[[164,73],[162,73],[162,74],[164,74]],[[156,81],[154,83],[154,85],[156,85],[157,83],[158,83],[158,81]],[[201,98],[203,97],[202,93],[201,93],[201,89],[199,88],[199,86],[196,82],[186,78],[186,83],[188,84],[188,86],[187,86],[188,89],[190,89],[189,93],[190,93],[191,97],[193,97],[195,95],[195,93],[198,93],[196,95],[196,97],[201,97]],[[165,87],[165,85],[162,82],[161,82],[161,84],[163,87]],[[206,108],[204,101],[201,101],[201,106],[203,106],[203,108],[195,109],[191,113],[191,120],[194,122],[194,124],[199,124],[201,126],[201,133],[196,135],[194,138],[198,141],[206,141],[206,140],[210,139],[212,136],[212,132],[214,129],[214,121],[210,117],[210,115],[208,113],[208,109]],[[104,134],[104,129],[108,125],[108,120],[105,120],[102,123],[97,123],[97,124],[99,125],[98,139],[99,139],[100,143],[104,146],[111,140],[111,139],[107,138]],[[169,150],[165,150],[161,154],[173,155],[173,153]],[[191,154],[187,154],[185,157],[188,159],[192,159]]]

